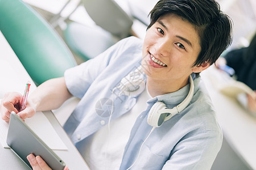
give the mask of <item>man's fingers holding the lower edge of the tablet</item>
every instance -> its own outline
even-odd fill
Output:
[[[51,168],[48,167],[47,163],[44,162],[44,160],[40,156],[34,156],[33,154],[30,154],[27,156],[28,162],[30,162],[31,167],[34,170],[49,170]],[[68,170],[68,167],[65,166],[64,170]]]

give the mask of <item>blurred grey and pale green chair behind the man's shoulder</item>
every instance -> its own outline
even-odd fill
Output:
[[[71,1],[67,1],[62,10],[51,19],[56,27],[60,20],[66,20],[79,6],[84,6],[96,25],[88,26],[69,22],[63,28],[64,40],[69,48],[84,61],[96,57],[110,46],[131,35],[133,20],[113,0],[80,0],[80,3],[66,18],[60,14]]]

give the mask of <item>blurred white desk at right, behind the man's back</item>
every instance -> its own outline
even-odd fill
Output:
[[[245,164],[256,169],[256,118],[243,108],[236,99],[221,94],[214,84],[218,82],[222,73],[215,67],[201,73],[207,86],[213,105],[216,108],[226,141]]]

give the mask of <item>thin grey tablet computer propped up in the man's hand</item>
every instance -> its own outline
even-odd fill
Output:
[[[52,169],[64,169],[65,163],[15,113],[11,112],[7,145],[29,166],[27,155],[41,156]],[[31,167],[32,168],[32,167]]]

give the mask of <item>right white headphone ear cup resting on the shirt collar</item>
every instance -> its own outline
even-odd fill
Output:
[[[159,127],[163,124],[164,122],[164,118],[166,118],[167,113],[158,113],[158,111],[166,109],[166,105],[161,102],[161,101],[157,101],[152,108],[150,109],[150,112],[148,113],[148,117],[147,117],[147,123],[150,126],[153,127]]]

